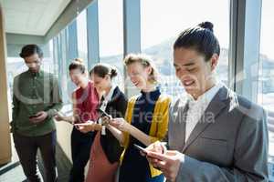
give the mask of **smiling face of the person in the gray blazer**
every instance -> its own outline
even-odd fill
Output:
[[[198,54],[195,49],[191,48],[174,49],[176,76],[188,94],[197,98],[214,86],[213,71],[217,59],[218,56],[214,55],[210,60],[205,61],[205,56]]]

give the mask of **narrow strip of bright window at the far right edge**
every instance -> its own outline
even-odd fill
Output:
[[[262,0],[260,55],[258,70],[258,104],[268,111],[269,156],[274,156],[274,12],[272,0]],[[273,172],[269,179],[274,180]]]

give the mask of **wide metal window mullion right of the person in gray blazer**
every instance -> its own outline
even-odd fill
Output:
[[[230,86],[257,102],[261,0],[231,0]]]

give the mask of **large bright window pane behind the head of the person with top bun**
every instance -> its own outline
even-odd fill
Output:
[[[185,28],[204,21],[214,24],[215,34],[221,45],[216,74],[227,84],[229,6],[229,0],[174,0],[168,3],[141,0],[141,49],[142,53],[153,57],[161,74],[160,83],[164,93],[178,96],[183,90],[174,75],[172,46],[176,36]]]

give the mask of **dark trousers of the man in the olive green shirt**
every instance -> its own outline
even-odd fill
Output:
[[[37,149],[39,148],[46,172],[46,181],[57,181],[56,131],[45,136],[22,136],[13,134],[16,152],[29,182],[41,181],[37,175]]]

